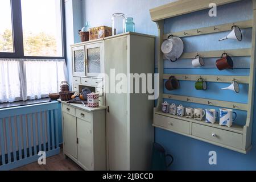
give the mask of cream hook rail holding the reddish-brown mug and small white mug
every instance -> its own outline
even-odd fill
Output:
[[[200,55],[203,58],[219,57],[221,58],[222,53],[227,53],[231,57],[239,56],[251,56],[251,48],[245,49],[229,49],[229,50],[217,50],[217,51],[204,51],[204,52],[184,52],[179,59],[195,59],[196,55]],[[166,57],[163,55],[163,59]],[[179,60],[178,60],[179,61]]]

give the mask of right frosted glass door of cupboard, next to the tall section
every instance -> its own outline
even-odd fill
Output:
[[[89,44],[85,46],[86,52],[86,76],[98,76],[104,73],[102,43]]]

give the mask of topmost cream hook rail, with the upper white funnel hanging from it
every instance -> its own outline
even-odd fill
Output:
[[[230,31],[233,25],[236,25],[241,29],[251,28],[251,27],[253,27],[253,20],[226,23],[226,24],[220,24],[220,25],[216,25],[216,26],[203,27],[203,28],[197,28],[197,29],[192,29],[192,30],[184,30],[184,31],[180,31],[180,32],[172,32],[170,34],[164,34],[163,39],[167,39],[168,36],[170,36],[170,35],[179,36],[180,38],[183,38],[186,36],[204,35],[204,34],[212,34],[212,33],[217,33],[217,32]]]

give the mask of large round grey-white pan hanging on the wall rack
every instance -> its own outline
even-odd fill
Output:
[[[183,41],[173,35],[169,35],[166,40],[162,43],[161,50],[164,56],[172,62],[177,61],[182,55],[184,49]]]

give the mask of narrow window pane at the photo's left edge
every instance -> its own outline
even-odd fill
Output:
[[[11,1],[0,1],[0,52],[13,52],[13,26]]]

